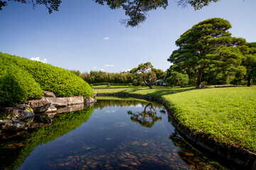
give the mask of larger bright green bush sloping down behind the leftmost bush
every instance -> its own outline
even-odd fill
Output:
[[[44,91],[52,91],[58,97],[93,96],[90,85],[68,70],[14,55],[1,55],[31,74]]]

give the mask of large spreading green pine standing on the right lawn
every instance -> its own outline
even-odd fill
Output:
[[[245,45],[245,40],[231,37],[230,28],[230,23],[223,18],[201,21],[176,40],[178,50],[168,61],[181,69],[193,69],[197,74],[196,88],[201,88],[203,71],[210,64],[227,67],[242,61],[237,47]]]

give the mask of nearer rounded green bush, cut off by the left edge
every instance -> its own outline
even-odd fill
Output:
[[[15,106],[41,96],[43,90],[31,74],[0,53],[0,106]]]

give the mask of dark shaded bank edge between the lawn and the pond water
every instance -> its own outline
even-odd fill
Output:
[[[200,150],[210,157],[218,159],[223,164],[232,164],[236,169],[251,169],[256,170],[256,154],[247,149],[230,146],[225,143],[220,143],[208,135],[203,133],[194,134],[188,127],[182,125],[174,115],[174,110],[163,98],[155,98],[151,96],[144,96],[140,94],[97,94],[97,96],[124,96],[132,98],[144,98],[151,101],[158,101],[163,104],[169,113],[171,122],[178,131],[178,133],[193,147]]]

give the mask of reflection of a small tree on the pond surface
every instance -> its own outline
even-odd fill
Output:
[[[149,111],[146,111],[146,108],[149,108]],[[156,115],[156,111],[151,103],[148,103],[142,112],[132,113],[132,111],[128,111],[127,113],[132,115],[131,120],[133,122],[147,128],[151,128],[157,120],[162,120],[161,116],[158,117]]]

